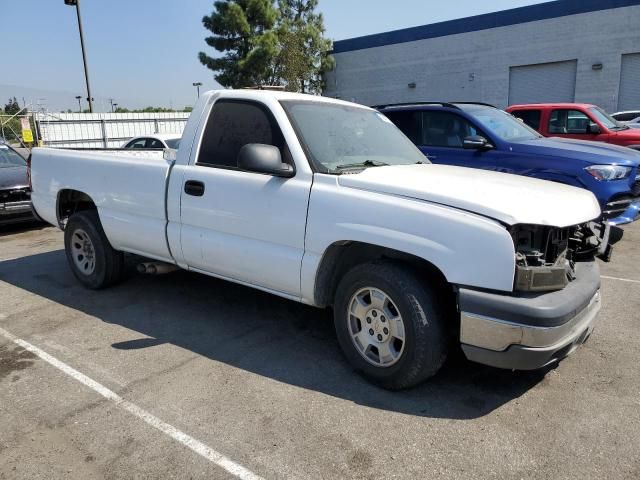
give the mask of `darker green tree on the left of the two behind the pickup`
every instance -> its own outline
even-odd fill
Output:
[[[213,33],[205,38],[210,47],[224,55],[212,58],[200,52],[198,58],[225,87],[239,88],[265,83],[277,53],[273,31],[278,12],[273,0],[218,0],[214,11],[202,19]]]

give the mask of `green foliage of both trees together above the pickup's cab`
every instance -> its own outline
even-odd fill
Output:
[[[284,85],[320,93],[323,73],[333,67],[318,0],[222,0],[202,19],[214,35],[207,44],[224,55],[200,52],[203,65],[225,87]]]

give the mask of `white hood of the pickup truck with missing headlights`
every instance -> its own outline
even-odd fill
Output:
[[[496,219],[568,227],[600,216],[588,190],[534,178],[449,165],[372,167],[339,185],[447,205]]]

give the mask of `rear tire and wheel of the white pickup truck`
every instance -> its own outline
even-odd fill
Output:
[[[64,247],[71,271],[85,287],[98,290],[121,280],[124,254],[107,240],[96,211],[75,213],[69,218]]]

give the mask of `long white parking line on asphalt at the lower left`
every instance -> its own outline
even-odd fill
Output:
[[[91,378],[87,377],[83,373],[80,373],[78,370],[70,367],[66,363],[61,362],[57,358],[52,357],[47,352],[40,350],[38,347],[31,345],[29,342],[25,342],[24,340],[16,337],[12,333],[7,332],[3,328],[0,328],[0,334],[2,334],[2,336],[5,337],[6,339],[11,340],[16,345],[19,345],[25,350],[28,350],[29,352],[37,355],[45,362],[49,363],[50,365],[53,365],[58,370],[69,375],[71,378],[74,378],[75,380],[82,383],[83,385],[86,385],[96,393],[102,395],[107,400],[111,400],[113,403],[115,403],[117,407],[123,410],[126,410],[127,412],[135,415],[141,420],[144,420],[146,423],[148,423],[152,427],[170,436],[171,438],[181,443],[185,447],[190,448],[191,450],[196,452],[198,455],[201,455],[202,457],[206,458],[210,462],[218,465],[221,468],[224,468],[231,475],[234,475],[235,477],[240,478],[242,480],[262,480],[262,477],[256,475],[250,470],[247,470],[242,465],[235,463],[233,460],[215,451],[213,448],[196,440],[190,435],[187,435],[186,433],[181,432],[180,430],[169,425],[168,423],[163,422],[158,417],[150,414],[149,412],[138,407],[137,405],[125,400],[117,393],[113,392],[112,390],[109,390],[104,385],[96,382],[95,380],[92,380]]]

